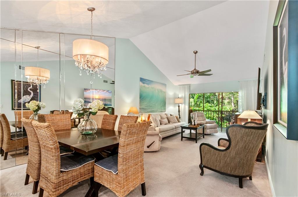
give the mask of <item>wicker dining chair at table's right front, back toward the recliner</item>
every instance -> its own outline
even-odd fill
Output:
[[[119,140],[119,154],[98,161],[94,166],[94,185],[86,196],[95,193],[101,185],[117,196],[126,196],[139,184],[146,195],[144,175],[144,144],[150,122],[124,124]]]

